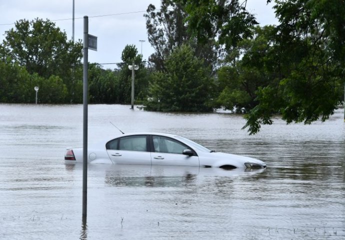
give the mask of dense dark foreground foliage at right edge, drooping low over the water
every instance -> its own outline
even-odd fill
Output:
[[[278,76],[257,90],[258,104],[245,116],[250,133],[271,124],[274,112],[287,123],[324,121],[343,99],[343,0],[275,0],[274,8]]]

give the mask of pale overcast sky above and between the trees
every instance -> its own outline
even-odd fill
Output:
[[[0,42],[4,32],[14,27],[19,19],[36,17],[49,19],[72,38],[73,0],[0,0]],[[126,44],[136,45],[142,50],[144,59],[153,52],[147,41],[145,13],[148,4],[157,9],[160,0],[74,0],[74,39],[82,39],[83,16],[89,18],[88,33],[97,36],[97,51],[89,50],[89,62],[121,62],[121,52]],[[247,9],[255,14],[260,25],[276,24],[272,4],[266,0],[247,0]],[[141,42],[139,40],[145,40]],[[114,68],[115,65],[103,65]]]

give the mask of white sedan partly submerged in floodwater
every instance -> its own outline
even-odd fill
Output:
[[[82,162],[82,148],[66,148],[65,162]],[[144,165],[178,165],[263,168],[258,159],[214,152],[185,137],[156,132],[127,133],[87,149],[87,162]]]

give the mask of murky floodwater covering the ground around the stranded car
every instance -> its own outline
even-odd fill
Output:
[[[343,109],[326,122],[276,118],[254,136],[239,115],[89,105],[88,141],[183,135],[266,169],[88,164],[82,222],[82,105],[0,104],[0,239],[344,239]]]

